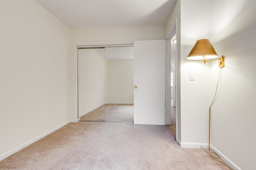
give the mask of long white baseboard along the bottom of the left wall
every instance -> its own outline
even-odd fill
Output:
[[[34,139],[31,139],[25,143],[23,143],[22,145],[15,147],[14,149],[11,149],[3,154],[0,155],[0,161],[7,158],[8,156],[11,156],[12,154],[18,152],[19,150],[27,147],[28,145],[31,145],[32,143],[38,141],[39,139],[42,139],[43,137],[46,137],[47,135],[49,135],[50,133],[60,129],[61,127],[67,125],[68,123],[70,123],[71,121],[66,121],[65,123],[62,123],[61,125],[58,125],[57,127],[54,127],[53,129],[50,129],[49,131],[35,137]]]

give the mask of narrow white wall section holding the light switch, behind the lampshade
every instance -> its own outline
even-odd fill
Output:
[[[200,147],[207,143],[208,109],[212,94],[210,63],[186,59],[198,39],[210,38],[211,0],[183,0],[181,2],[181,120],[182,146],[190,143]],[[203,15],[202,15],[203,14]],[[190,44],[190,45],[188,45]],[[195,80],[189,80],[189,72]]]

